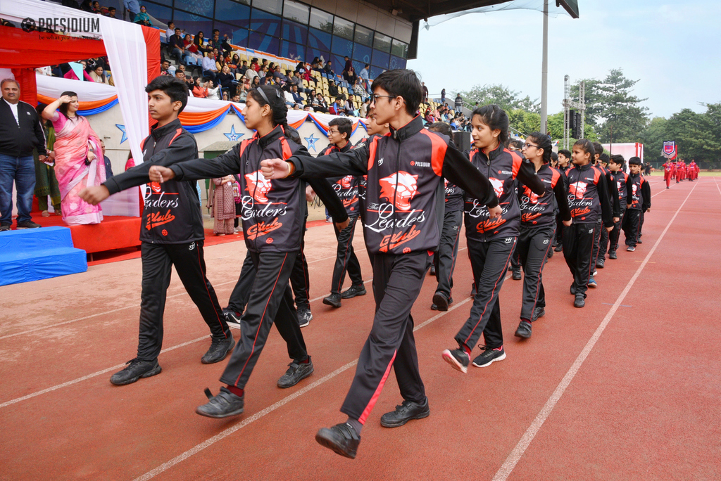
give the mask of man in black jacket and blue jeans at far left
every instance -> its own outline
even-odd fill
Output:
[[[30,217],[35,190],[32,150],[37,148],[40,162],[45,161],[45,132],[35,108],[20,102],[20,86],[16,81],[5,78],[0,89],[0,232],[12,226],[13,181],[17,189],[17,228],[39,228]]]

